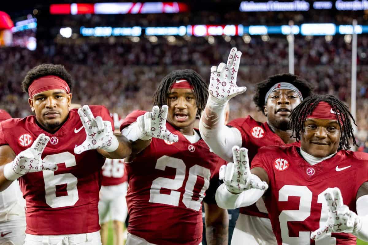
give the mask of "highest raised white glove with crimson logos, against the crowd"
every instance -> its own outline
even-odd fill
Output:
[[[219,66],[211,67],[211,76],[208,91],[210,95],[227,101],[237,94],[244,93],[247,87],[238,87],[236,78],[238,75],[241,52],[236,48],[231,48],[227,63],[220,63]]]

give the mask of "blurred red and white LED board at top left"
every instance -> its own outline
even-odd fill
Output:
[[[51,4],[50,14],[160,14],[186,12],[178,2]]]

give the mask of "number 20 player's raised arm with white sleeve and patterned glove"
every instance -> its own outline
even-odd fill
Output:
[[[160,108],[155,105],[152,112],[138,116],[137,120],[121,130],[121,134],[132,141],[132,154],[143,151],[152,138],[159,138],[169,142],[177,142],[178,136],[166,129],[167,105]]]

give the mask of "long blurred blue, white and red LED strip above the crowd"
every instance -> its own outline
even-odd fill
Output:
[[[17,26],[15,27],[17,28]],[[26,28],[26,27],[22,27]],[[188,25],[188,26],[171,26],[171,27],[112,27],[112,26],[96,26],[94,28],[79,28],[79,34],[82,36],[243,36],[243,35],[294,35],[301,34],[303,36],[326,36],[336,34],[353,34],[353,25],[338,25],[332,23],[324,24],[302,24],[302,25]],[[356,25],[355,32],[357,34],[368,33],[368,25]],[[187,37],[185,37],[187,36]]]

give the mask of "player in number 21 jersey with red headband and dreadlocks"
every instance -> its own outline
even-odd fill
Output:
[[[368,155],[348,151],[350,139],[356,144],[351,119],[355,123],[339,99],[310,96],[290,115],[300,147],[263,147],[251,170],[248,149],[233,148],[224,185],[241,193],[235,202],[252,203],[264,194],[277,244],[368,241]]]

